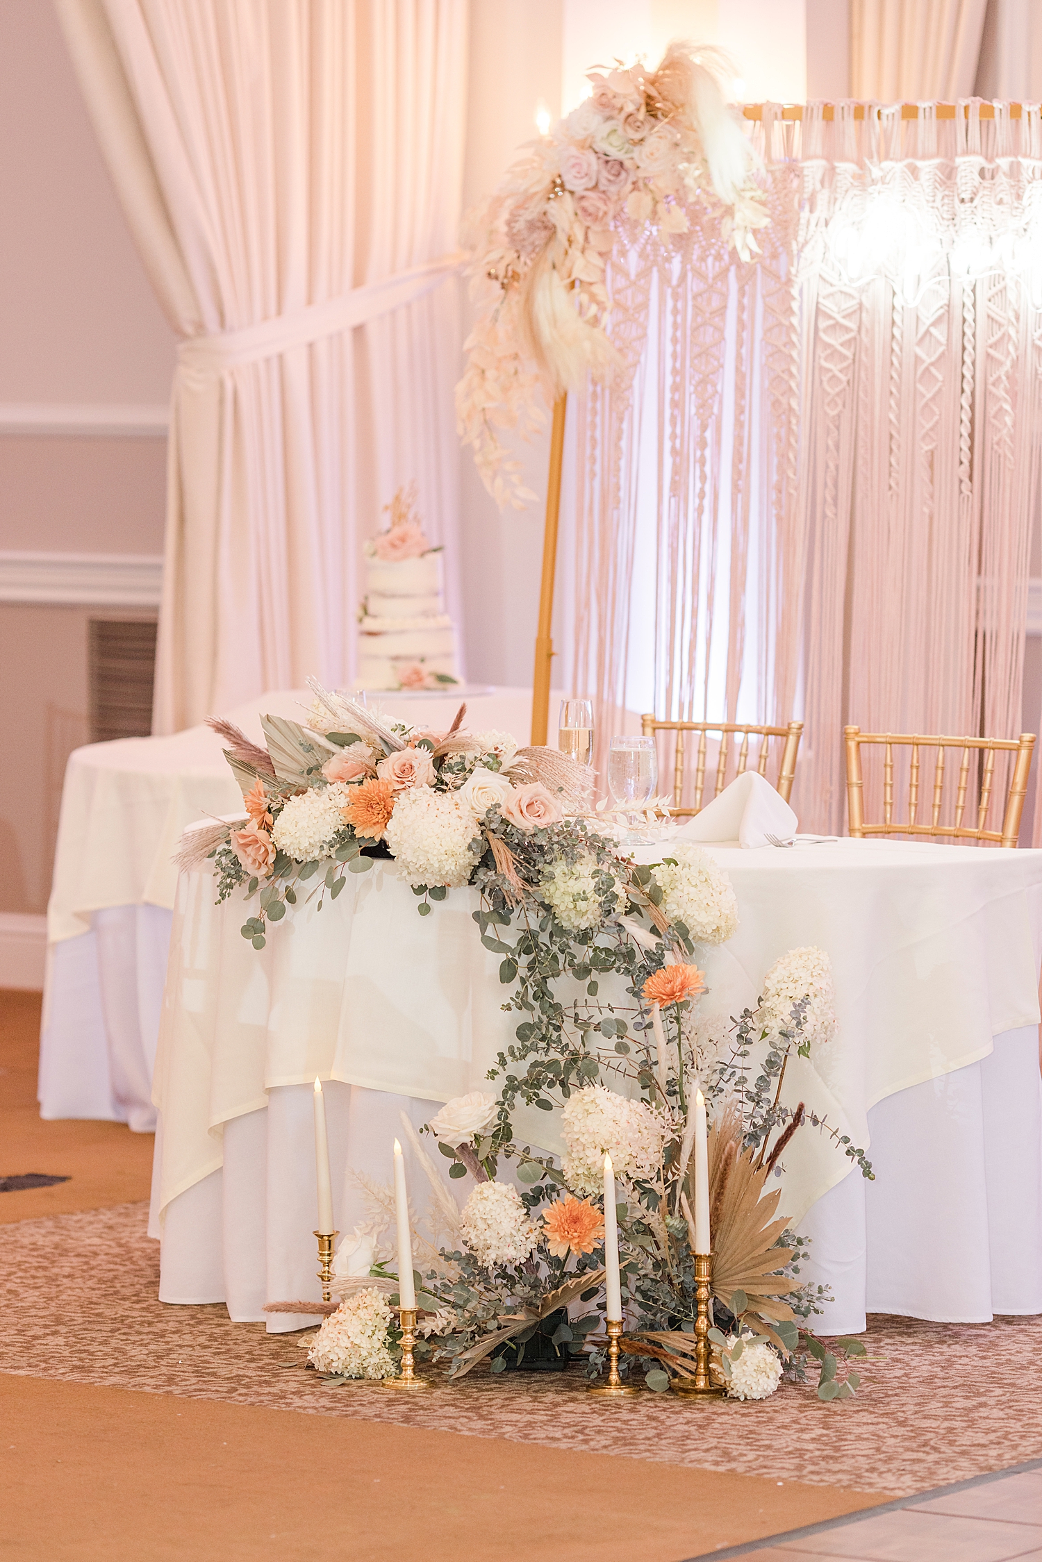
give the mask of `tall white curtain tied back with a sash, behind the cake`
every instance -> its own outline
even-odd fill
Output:
[[[183,337],[169,733],[351,676],[361,542],[398,484],[417,480],[433,540],[453,540],[467,3],[56,3]]]

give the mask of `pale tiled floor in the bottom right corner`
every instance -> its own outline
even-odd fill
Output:
[[[1042,1470],[978,1481],[740,1556],[742,1562],[1042,1562]]]

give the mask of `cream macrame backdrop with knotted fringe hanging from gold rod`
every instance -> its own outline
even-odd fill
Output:
[[[756,134],[755,264],[708,217],[612,267],[625,372],[578,408],[573,684],[601,767],[626,706],[801,715],[794,806],[837,833],[844,722],[1020,731],[1042,119],[769,105]]]

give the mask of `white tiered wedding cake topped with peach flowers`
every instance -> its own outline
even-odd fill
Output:
[[[441,689],[459,681],[456,626],[445,612],[442,550],[423,536],[416,484],[398,489],[391,526],[366,544],[367,590],[359,612],[362,689]]]

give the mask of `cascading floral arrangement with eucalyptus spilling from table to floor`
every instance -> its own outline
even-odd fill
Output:
[[[705,1103],[717,1370],[733,1395],[759,1398],[783,1373],[805,1378],[817,1357],[822,1398],[850,1395],[856,1375],[840,1382],[836,1350],[808,1328],[823,1293],[800,1282],[803,1242],[776,1215],[780,1187],[769,1187],[806,1123],[872,1176],[848,1136],[781,1098],[789,1059],[811,1057],[834,1034],[828,956],[789,951],[756,1007],[711,1037],[697,1025],[706,982],[695,958],[737,928],[734,890],[711,854],[678,840],[661,862],[634,862],[576,817],[586,767],[505,733],[472,736],[466,708],[447,733],[431,733],[312,690],[305,722],[264,719],[266,748],[212,723],[230,744],[247,820],[189,831],[181,862],[212,861],[219,900],[256,897],[242,933],[258,948],[308,881],[322,906],[376,858],[395,859],[422,915],[453,889],[478,892],[475,936],[500,956],[503,1009],[517,1023],[491,1073],[498,1095],[450,1101],[426,1125],[448,1179],[472,1178],[462,1209],[403,1117],[434,1193],[430,1229],[412,1220],[419,1353],[448,1361],[453,1378],[484,1357],[503,1371],[526,1354],[581,1354],[587,1373],[601,1371],[608,1153],[625,1193],[616,1212],[625,1350],[650,1389],[691,1378],[692,1151]],[[561,1157],[516,1136],[519,1106],[556,1112]],[[498,1179],[500,1165],[512,1181]],[[398,1353],[398,1278],[380,1250],[394,1195],[361,1181],[373,1218],[341,1245],[342,1303],[311,1345],[325,1381],[386,1376]]]

